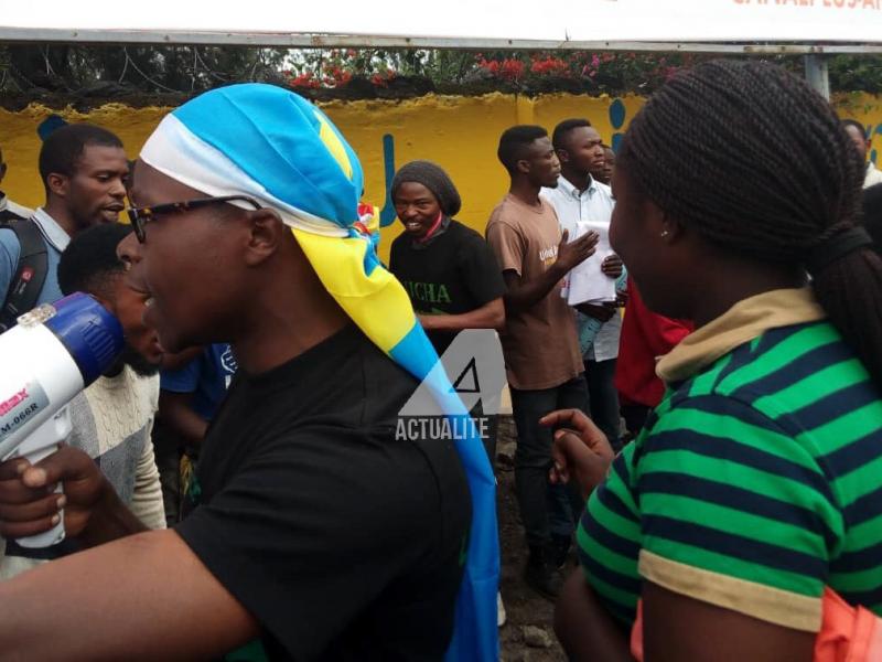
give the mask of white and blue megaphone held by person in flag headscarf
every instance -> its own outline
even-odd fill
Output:
[[[55,452],[71,435],[67,403],[110,369],[122,348],[119,321],[82,292],[21,316],[0,335],[0,461],[34,463]],[[62,516],[51,531],[17,542],[47,547],[63,540]]]

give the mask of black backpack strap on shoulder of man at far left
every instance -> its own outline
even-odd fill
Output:
[[[6,214],[3,214],[6,215]],[[36,305],[49,273],[49,250],[40,228],[31,220],[0,217],[0,228],[15,233],[21,244],[19,265],[0,309],[0,333],[15,325],[19,316]]]

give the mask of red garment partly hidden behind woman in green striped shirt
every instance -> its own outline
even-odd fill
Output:
[[[656,359],[670,352],[692,332],[693,325],[650,311],[631,279],[627,290],[615,387],[623,405],[655,407],[665,394],[665,385],[655,374]]]

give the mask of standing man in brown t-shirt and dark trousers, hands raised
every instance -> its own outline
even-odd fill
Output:
[[[552,430],[541,427],[539,418],[561,408],[588,410],[576,321],[560,288],[567,273],[594,253],[598,236],[567,243],[553,207],[539,197],[542,186],[557,186],[560,174],[544,128],[512,127],[502,135],[497,153],[512,184],[491,215],[486,236],[508,288],[502,342],[518,436],[515,489],[530,549],[525,579],[555,598],[562,580],[558,565],[581,502],[548,483]]]

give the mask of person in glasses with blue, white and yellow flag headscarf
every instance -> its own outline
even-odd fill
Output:
[[[493,473],[476,436],[396,438],[420,381],[439,415],[466,412],[355,227],[345,139],[290,92],[236,85],[168,116],[136,172],[120,254],[146,321],[171,352],[230,342],[239,374],[173,531],[142,533],[72,449],[0,465],[0,534],[63,505],[90,547],[0,586],[0,656],[495,659]]]

